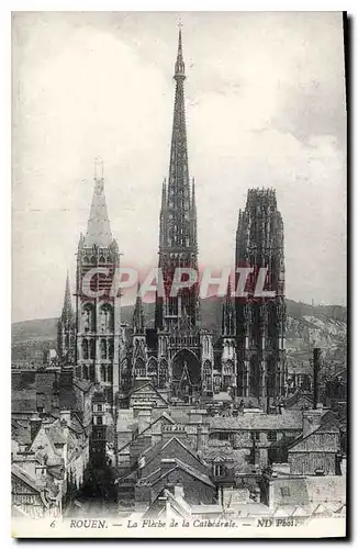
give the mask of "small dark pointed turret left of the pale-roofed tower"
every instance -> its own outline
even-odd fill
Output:
[[[76,323],[72,310],[69,274],[67,272],[64,306],[57,323],[57,355],[61,366],[70,366],[75,359]]]

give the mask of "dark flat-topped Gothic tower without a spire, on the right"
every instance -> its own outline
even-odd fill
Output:
[[[247,298],[236,296],[238,354],[237,392],[258,397],[264,406],[284,394],[286,304],[283,222],[276,191],[250,189],[239,211],[236,233],[236,268],[253,267]],[[264,290],[275,296],[255,295],[258,269],[266,267]]]

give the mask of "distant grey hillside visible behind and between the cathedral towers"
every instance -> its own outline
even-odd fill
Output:
[[[222,302],[209,298],[201,303],[202,322],[216,338],[220,335]],[[314,306],[287,300],[289,355],[305,358],[313,346],[329,350],[338,360],[345,358],[347,309],[338,305]],[[148,326],[154,323],[154,303],[144,305]],[[131,323],[133,306],[122,307],[122,318]],[[12,361],[41,361],[44,350],[56,346],[57,318],[25,321],[12,324]],[[337,350],[338,349],[338,350]]]

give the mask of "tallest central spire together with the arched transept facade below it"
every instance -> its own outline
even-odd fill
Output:
[[[170,295],[177,268],[190,268],[198,273],[195,188],[194,180],[189,180],[181,30],[174,79],[169,177],[163,183],[159,223],[158,266],[165,292],[156,296],[156,358],[159,389],[190,401],[213,391],[213,348],[211,334],[200,327],[198,283]],[[149,362],[147,374],[150,374]]]

